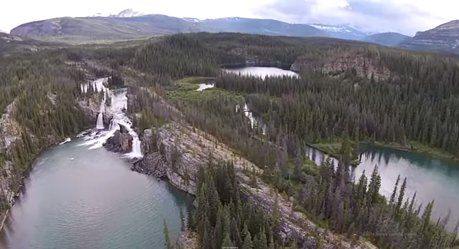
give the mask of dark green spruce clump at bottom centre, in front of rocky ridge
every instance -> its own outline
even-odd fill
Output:
[[[275,204],[266,213],[251,199],[240,198],[232,163],[201,167],[197,181],[197,210],[191,229],[199,235],[200,248],[280,248],[280,211]],[[277,195],[276,195],[277,196]],[[287,241],[296,247],[295,241]]]

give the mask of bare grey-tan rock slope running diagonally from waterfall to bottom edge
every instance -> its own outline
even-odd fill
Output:
[[[244,168],[254,167],[258,174],[262,172],[253,163],[237,156],[226,145],[216,142],[216,139],[204,132],[184,126],[179,123],[169,123],[156,131],[156,145],[158,152],[147,154],[134,164],[132,169],[140,173],[166,177],[172,185],[195,195],[197,171],[212,158],[216,161],[233,161],[240,182],[243,197],[250,197],[266,211],[270,211],[274,204],[273,195],[269,186],[258,180],[258,188],[249,186],[249,176],[245,175]],[[323,237],[324,248],[374,248],[365,241],[358,241],[351,245],[343,238],[318,228],[306,219],[305,215],[292,210],[293,203],[279,195],[280,211],[282,213],[282,237],[295,239],[301,248],[315,248],[315,237]],[[182,235],[187,236],[187,235]],[[193,247],[190,247],[193,248]]]

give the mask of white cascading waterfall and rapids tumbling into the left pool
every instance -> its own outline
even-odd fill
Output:
[[[132,152],[125,154],[127,158],[142,158],[142,148],[138,134],[132,128],[132,121],[125,114],[127,108],[127,89],[115,89],[110,90],[103,86],[103,83],[106,82],[107,78],[101,78],[93,82],[82,84],[82,91],[88,91],[89,84],[92,84],[92,87],[97,89],[97,91],[108,91],[108,97],[112,99],[112,104],[106,106],[106,97],[104,95],[103,102],[99,110],[99,115],[97,115],[96,130],[93,130],[91,134],[85,137],[87,140],[83,145],[90,146],[90,149],[96,149],[102,147],[103,143],[107,141],[108,138],[112,137],[116,130],[120,130],[119,125],[124,126],[129,134],[132,136]],[[106,130],[103,126],[103,112],[107,112],[108,116],[112,115],[113,119],[110,121],[110,126]]]

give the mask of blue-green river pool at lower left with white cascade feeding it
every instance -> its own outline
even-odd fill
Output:
[[[110,113],[129,123],[122,110],[125,90],[110,95]],[[194,198],[131,171],[129,158],[141,154],[101,147],[114,127],[66,139],[36,158],[5,221],[0,248],[166,248],[164,220],[171,239],[177,238]]]

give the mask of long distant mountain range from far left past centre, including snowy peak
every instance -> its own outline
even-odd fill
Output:
[[[330,36],[307,24],[291,24],[269,19],[179,19],[161,14],[136,15],[125,10],[116,16],[62,17],[25,23],[11,34],[40,40],[62,40],[67,43],[87,43],[95,40],[124,40],[156,34],[188,32],[240,32],[275,36]]]

